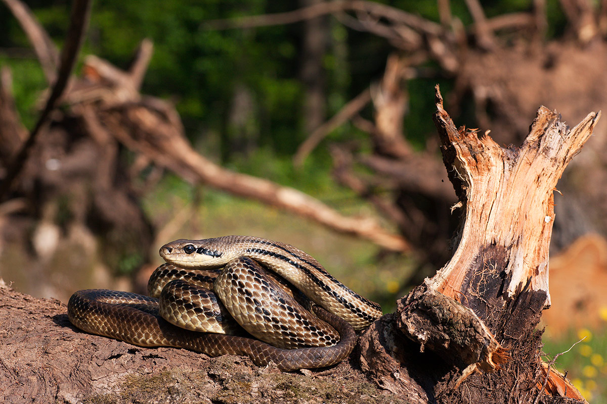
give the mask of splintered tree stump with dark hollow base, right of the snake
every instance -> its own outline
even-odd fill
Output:
[[[452,259],[361,340],[362,368],[414,402],[550,402],[583,397],[541,360],[550,305],[553,191],[600,113],[569,128],[540,107],[520,147],[459,128],[436,87],[434,116],[461,222]],[[547,393],[547,394],[546,394]]]

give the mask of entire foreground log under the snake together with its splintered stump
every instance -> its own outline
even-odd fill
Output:
[[[504,149],[489,136],[457,130],[438,92],[437,108],[463,225],[452,260],[361,339],[361,369],[395,396],[365,384],[355,363],[281,374],[247,359],[208,359],[81,333],[58,300],[0,286],[4,399],[226,402],[248,394],[246,400],[260,402],[322,396],[325,402],[544,403],[551,402],[546,393],[564,392],[581,399],[541,362],[541,333],[534,327],[549,301],[552,189],[600,114],[569,129],[554,111],[540,108],[523,146]]]

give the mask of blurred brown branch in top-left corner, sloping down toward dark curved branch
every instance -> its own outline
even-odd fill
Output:
[[[59,66],[59,51],[53,44],[46,30],[41,27],[38,20],[29,7],[20,0],[4,0],[4,3],[13,13],[21,28],[32,42],[34,51],[44,71],[44,76],[49,85],[55,82],[57,68]]]

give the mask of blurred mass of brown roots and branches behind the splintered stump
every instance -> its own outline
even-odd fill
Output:
[[[487,16],[479,1],[469,0],[465,4],[469,13],[467,17],[471,20],[467,26],[462,24],[461,17],[453,15],[450,2],[444,1],[438,3],[440,24],[392,5],[341,0],[321,2],[290,12],[202,23],[206,29],[250,29],[293,24],[331,14],[342,24],[385,38],[398,49],[398,56],[392,55],[387,59],[383,78],[368,87],[369,93],[369,90],[363,90],[345,102],[332,118],[308,132],[310,135],[300,144],[294,162],[300,166],[331,131],[346,122],[366,131],[371,153],[360,141],[331,147],[336,167],[334,174],[342,185],[350,187],[374,205],[378,213],[397,224],[399,232],[423,257],[422,260],[429,260],[434,267],[442,265],[449,257],[447,239],[455,230],[455,220],[446,212],[456,199],[450,185],[444,182],[446,174],[436,158],[436,142],[429,137],[426,150],[419,150],[405,139],[407,129],[413,129],[404,125],[405,117],[410,113],[408,83],[423,75],[427,66],[438,64],[440,69],[432,76],[437,80],[449,78],[455,86],[448,100],[450,109],[463,113],[464,108],[469,108],[466,98],[472,95],[472,108],[479,127],[491,129],[492,136],[503,144],[521,141],[526,134],[526,122],[533,118],[537,105],[558,108],[564,115],[568,114],[569,119],[575,120],[582,119],[585,111],[599,109],[607,101],[596,94],[597,97],[583,101],[585,109],[579,108],[578,104],[574,107],[568,102],[572,90],[566,84],[569,83],[566,73],[569,69],[580,71],[582,65],[588,65],[586,58],[591,58],[597,51],[601,55],[607,52],[605,41],[599,40],[600,35],[605,36],[605,27],[599,29],[595,24],[600,20],[603,8],[596,8],[586,1],[561,2],[569,22],[566,32],[573,35],[573,41],[561,39],[546,44],[548,10],[544,1],[532,2],[528,11],[493,16]],[[585,50],[583,45],[593,39],[592,51]],[[561,55],[558,68],[552,65],[557,63],[554,56],[557,54]],[[592,69],[591,75],[583,79],[582,87],[577,90],[576,97],[580,94],[580,102],[583,94],[595,93],[591,88],[597,82],[605,82],[605,74]],[[362,116],[370,99],[373,101],[374,121]],[[588,170],[589,166],[580,166],[589,164],[589,161],[600,165],[600,155],[606,153],[603,125],[600,124],[597,130],[600,137],[597,142],[601,146],[594,151],[595,156],[576,162],[568,172]],[[370,169],[375,174],[357,173],[361,168]],[[600,184],[607,183],[603,174],[605,170],[591,172],[600,177],[597,178]],[[607,233],[607,222],[600,218],[600,214],[592,213],[595,209],[587,205],[588,200],[578,197],[579,183],[565,179],[559,186],[571,187],[575,196],[563,200],[557,208],[557,213],[562,211],[563,214],[558,216],[560,219],[555,225],[555,248],[565,247],[589,228]],[[592,195],[594,204],[603,204],[603,191],[595,188],[585,192]],[[575,216],[580,219],[575,224],[567,219],[572,211],[576,211]],[[405,220],[407,217],[409,219]]]

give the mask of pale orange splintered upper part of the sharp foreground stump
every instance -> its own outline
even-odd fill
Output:
[[[476,130],[456,130],[440,98],[437,108],[443,159],[451,167],[464,220],[455,254],[428,285],[460,300],[481,284],[499,283],[506,299],[523,289],[544,291],[549,305],[552,190],[600,113],[569,129],[556,111],[540,107],[523,145],[506,149],[487,135],[479,138]],[[506,282],[492,276],[501,272]]]

